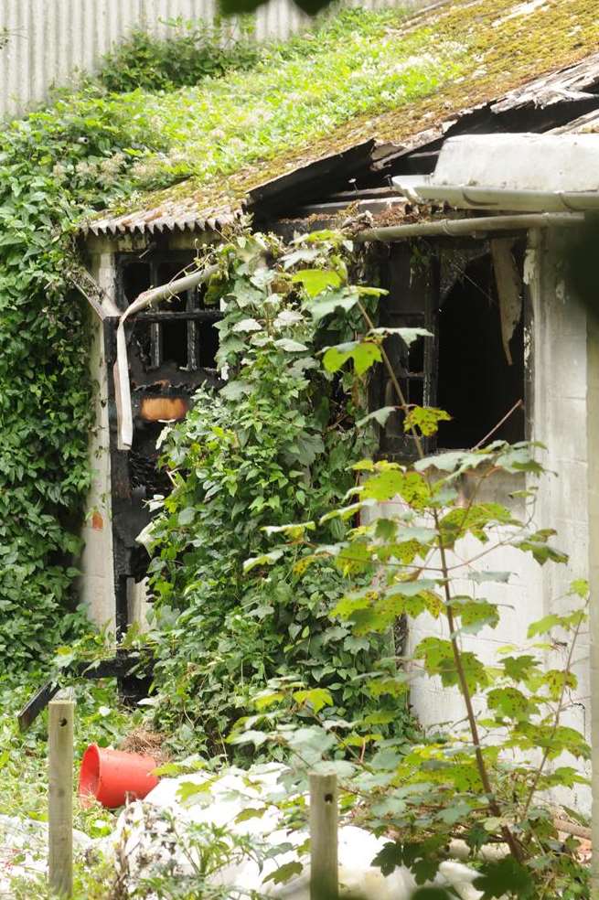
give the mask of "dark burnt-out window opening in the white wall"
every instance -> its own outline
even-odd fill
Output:
[[[380,305],[380,324],[423,327],[435,336],[418,338],[410,348],[398,336],[385,344],[407,402],[438,406],[452,416],[450,422],[440,423],[434,438],[424,441],[427,453],[475,446],[524,401],[525,247],[524,241],[512,242],[506,252],[503,239],[500,242],[501,252],[495,253],[479,241],[461,247],[455,241],[391,245],[382,266],[389,295]],[[501,303],[497,279],[505,279]],[[372,409],[397,405],[382,367],[371,403]],[[514,442],[524,437],[522,404],[493,439]],[[400,412],[392,413],[381,429],[380,451],[391,458],[415,455]]]

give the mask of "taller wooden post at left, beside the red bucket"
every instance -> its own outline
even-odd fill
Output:
[[[48,703],[48,879],[52,895],[73,893],[73,718],[71,692]]]

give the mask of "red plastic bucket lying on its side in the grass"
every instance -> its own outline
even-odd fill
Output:
[[[91,744],[81,760],[79,796],[83,804],[95,798],[107,809],[123,806],[127,798],[143,800],[158,784],[151,774],[157,765],[153,756]]]

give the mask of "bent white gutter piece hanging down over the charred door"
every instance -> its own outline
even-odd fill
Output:
[[[128,318],[139,313],[148,306],[160,303],[169,297],[188,291],[198,284],[208,281],[212,275],[219,271],[218,265],[210,265],[206,269],[177,278],[176,281],[161,284],[149,291],[144,291],[134,302],[127,306],[119,319],[116,329],[116,362],[112,369],[114,378],[114,399],[116,402],[117,416],[117,446],[119,450],[130,450],[134,438],[134,418],[131,407],[131,386],[129,383],[129,360],[127,359],[127,341],[124,333],[124,323]]]

